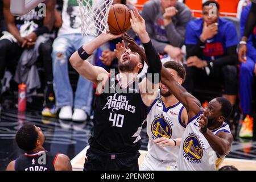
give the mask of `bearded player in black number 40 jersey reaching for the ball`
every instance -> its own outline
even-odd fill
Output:
[[[144,19],[137,9],[131,11],[131,17],[131,27],[141,39],[149,62],[147,77],[141,82],[137,75],[143,67],[143,60],[137,52],[131,52],[130,49],[115,51],[117,55],[121,55],[119,73],[108,73],[86,60],[101,44],[122,35],[102,33],[79,48],[70,59],[77,72],[97,85],[94,126],[84,170],[139,169],[139,134],[146,119],[147,108],[158,93],[162,64],[146,32]]]

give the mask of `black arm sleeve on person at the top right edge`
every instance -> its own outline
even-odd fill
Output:
[[[251,32],[253,32],[253,28],[256,23],[256,3],[251,2],[251,9],[247,16],[246,24],[245,24],[245,31],[243,32],[243,36],[249,38]]]

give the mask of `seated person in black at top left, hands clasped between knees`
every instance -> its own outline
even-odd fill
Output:
[[[3,13],[9,32],[4,32],[4,35],[0,38],[0,80],[3,78],[6,68],[9,68],[14,74],[22,53],[33,51],[34,46],[38,47],[36,52],[39,53],[39,57],[43,60],[43,68],[46,73],[45,80],[47,82],[44,111],[51,115],[51,111],[55,110],[51,59],[53,40],[47,34],[51,32],[53,27],[55,1],[47,0],[44,3],[46,3],[46,17],[38,14],[40,7],[36,7],[26,15],[13,16],[10,13],[10,0],[3,0]],[[37,57],[35,56],[32,61],[36,61],[36,59]],[[30,63],[30,65],[32,64],[34,65],[34,63]],[[40,80],[36,82],[34,77],[32,79],[32,84],[40,85]]]

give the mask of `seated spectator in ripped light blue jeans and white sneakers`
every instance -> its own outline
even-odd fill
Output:
[[[56,108],[60,109],[60,119],[73,119],[85,121],[91,110],[92,83],[79,77],[76,87],[75,99],[68,76],[69,57],[79,47],[89,42],[94,36],[81,35],[81,17],[79,4],[76,0],[64,0],[62,11],[63,23],[53,42],[53,82],[56,94]],[[93,31],[93,30],[90,30]],[[90,62],[93,57],[90,57]],[[72,106],[74,113],[72,114]]]

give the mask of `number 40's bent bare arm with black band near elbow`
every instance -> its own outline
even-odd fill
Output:
[[[102,44],[108,42],[109,40],[118,38],[119,36],[121,35],[112,35],[110,33],[108,34],[102,33],[97,38],[90,41],[88,44],[85,44],[84,46],[80,47],[79,49],[77,49],[75,53],[73,53],[73,55],[69,60],[72,67],[75,68],[76,71],[79,72],[81,76],[98,84],[98,82],[102,81],[99,76],[103,75],[104,73],[106,75],[109,75],[109,73],[104,68],[97,67],[90,64],[87,59]]]

